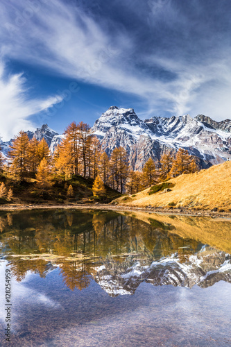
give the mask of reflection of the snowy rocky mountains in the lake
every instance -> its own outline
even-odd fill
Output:
[[[148,260],[130,260],[128,266],[112,259],[99,266],[94,280],[110,296],[134,294],[142,282],[207,288],[223,280],[231,282],[231,257],[215,248],[205,247],[194,255],[173,254],[148,264]]]

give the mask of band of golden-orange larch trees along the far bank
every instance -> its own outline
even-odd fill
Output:
[[[0,174],[19,182],[34,178],[42,190],[51,187],[54,177],[70,180],[82,176],[94,180],[94,196],[105,196],[105,186],[120,193],[135,194],[169,178],[196,171],[196,158],[186,149],[179,149],[175,156],[163,153],[161,158],[150,157],[142,171],[134,171],[129,165],[126,149],[115,147],[107,153],[83,121],[79,124],[74,121],[67,126],[53,155],[45,139],[29,139],[24,131],[13,139],[8,158],[3,156],[0,148]],[[69,197],[76,196],[71,185],[66,192]],[[9,200],[11,198],[12,192],[8,196]]]

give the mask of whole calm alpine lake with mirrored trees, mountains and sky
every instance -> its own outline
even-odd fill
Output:
[[[230,220],[1,211],[0,252],[1,346],[231,344]]]

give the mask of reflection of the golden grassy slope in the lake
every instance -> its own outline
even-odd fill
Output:
[[[203,244],[209,244],[231,253],[231,221],[212,219],[211,217],[191,217],[166,214],[148,214],[146,212],[126,212],[146,223],[152,220],[171,226],[169,232],[180,237],[196,239]]]

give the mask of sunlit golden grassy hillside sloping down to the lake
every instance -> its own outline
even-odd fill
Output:
[[[139,207],[151,205],[231,211],[231,162],[214,165],[195,174],[181,175],[172,178],[168,183],[172,183],[169,185],[169,192],[159,190],[158,187],[148,188],[132,196],[121,197],[117,201],[120,205]]]

